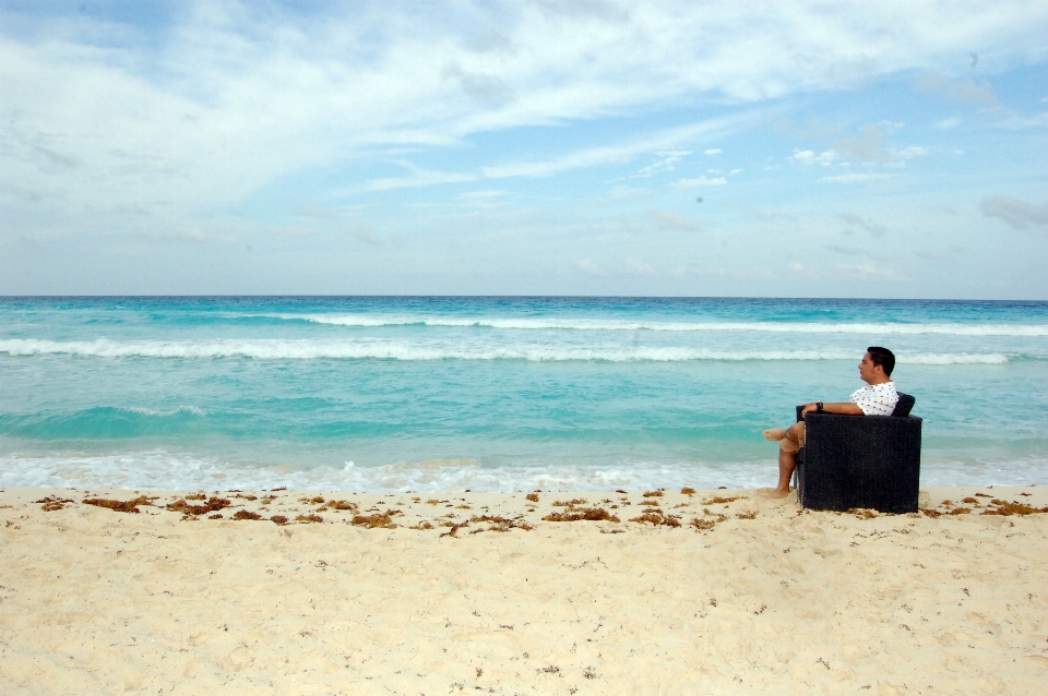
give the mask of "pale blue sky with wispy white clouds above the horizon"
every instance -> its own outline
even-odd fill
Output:
[[[1045,2],[0,0],[0,41],[3,293],[1048,299]]]

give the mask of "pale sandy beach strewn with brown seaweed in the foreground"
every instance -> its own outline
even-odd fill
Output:
[[[2,491],[0,692],[1045,693],[1048,488],[537,499]]]

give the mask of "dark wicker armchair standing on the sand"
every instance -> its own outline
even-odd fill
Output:
[[[803,507],[917,512],[921,420],[909,416],[914,397],[898,397],[891,416],[808,413],[796,470]]]

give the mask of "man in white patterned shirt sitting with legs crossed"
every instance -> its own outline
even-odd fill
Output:
[[[892,382],[895,356],[888,348],[870,346],[859,363],[859,379],[867,386],[856,391],[847,404],[806,404],[801,418],[811,411],[818,413],[843,413],[847,416],[891,416],[898,403],[898,393]],[[771,497],[789,494],[789,479],[797,468],[797,453],[805,446],[805,421],[785,428],[765,430],[764,436],[778,442],[778,485]]]

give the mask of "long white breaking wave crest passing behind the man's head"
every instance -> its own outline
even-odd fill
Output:
[[[409,344],[317,340],[56,341],[27,338],[0,340],[10,356],[72,355],[98,358],[252,358],[257,360],[527,360],[535,362],[682,362],[692,360],[854,360],[835,350],[707,350],[683,347],[635,348],[440,348]],[[1004,364],[1003,353],[900,353],[901,364]]]

